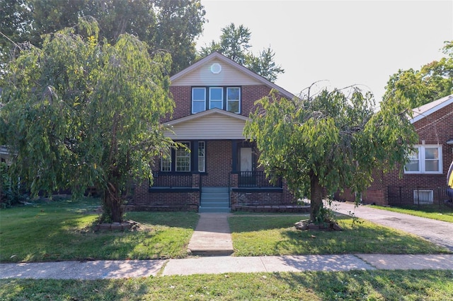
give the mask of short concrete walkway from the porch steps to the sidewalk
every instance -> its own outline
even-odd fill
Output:
[[[229,213],[199,213],[197,228],[193,232],[188,250],[193,255],[228,256],[233,254],[233,241],[229,230]]]

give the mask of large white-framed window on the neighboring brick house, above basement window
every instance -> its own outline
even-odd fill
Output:
[[[406,174],[441,174],[442,146],[414,146],[409,162],[404,166]]]

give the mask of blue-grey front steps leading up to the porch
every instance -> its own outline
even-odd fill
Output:
[[[229,213],[230,211],[228,187],[202,187],[198,212]]]

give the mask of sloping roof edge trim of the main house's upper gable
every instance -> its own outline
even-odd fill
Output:
[[[225,57],[223,54],[220,54],[219,52],[212,52],[212,54],[208,55],[207,57],[204,57],[200,59],[200,61],[197,61],[195,64],[192,64],[188,68],[184,69],[183,71],[180,71],[176,73],[175,75],[171,76],[170,81],[176,81],[178,78],[181,78],[185,76],[186,74],[195,71],[196,69],[200,68],[200,66],[207,64],[208,62],[218,59],[219,61],[224,62],[225,64],[229,64],[229,66],[233,67],[234,69],[245,73],[247,76],[250,76],[251,78],[255,79],[256,81],[262,83],[263,85],[267,85],[268,87],[277,90],[280,94],[284,95],[285,97],[292,99],[295,97],[292,93],[289,93],[287,90],[283,89],[282,87],[275,85],[275,83],[272,83],[271,81],[268,81],[267,79],[263,78],[263,76],[259,76],[258,74],[254,73],[253,71],[247,69],[246,67],[242,66],[241,64],[236,63],[236,61],[233,61],[232,59],[229,59]]]

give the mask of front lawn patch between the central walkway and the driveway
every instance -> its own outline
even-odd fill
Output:
[[[234,256],[291,254],[439,254],[449,253],[428,240],[352,218],[338,218],[338,231],[299,231],[301,216],[232,216]]]

